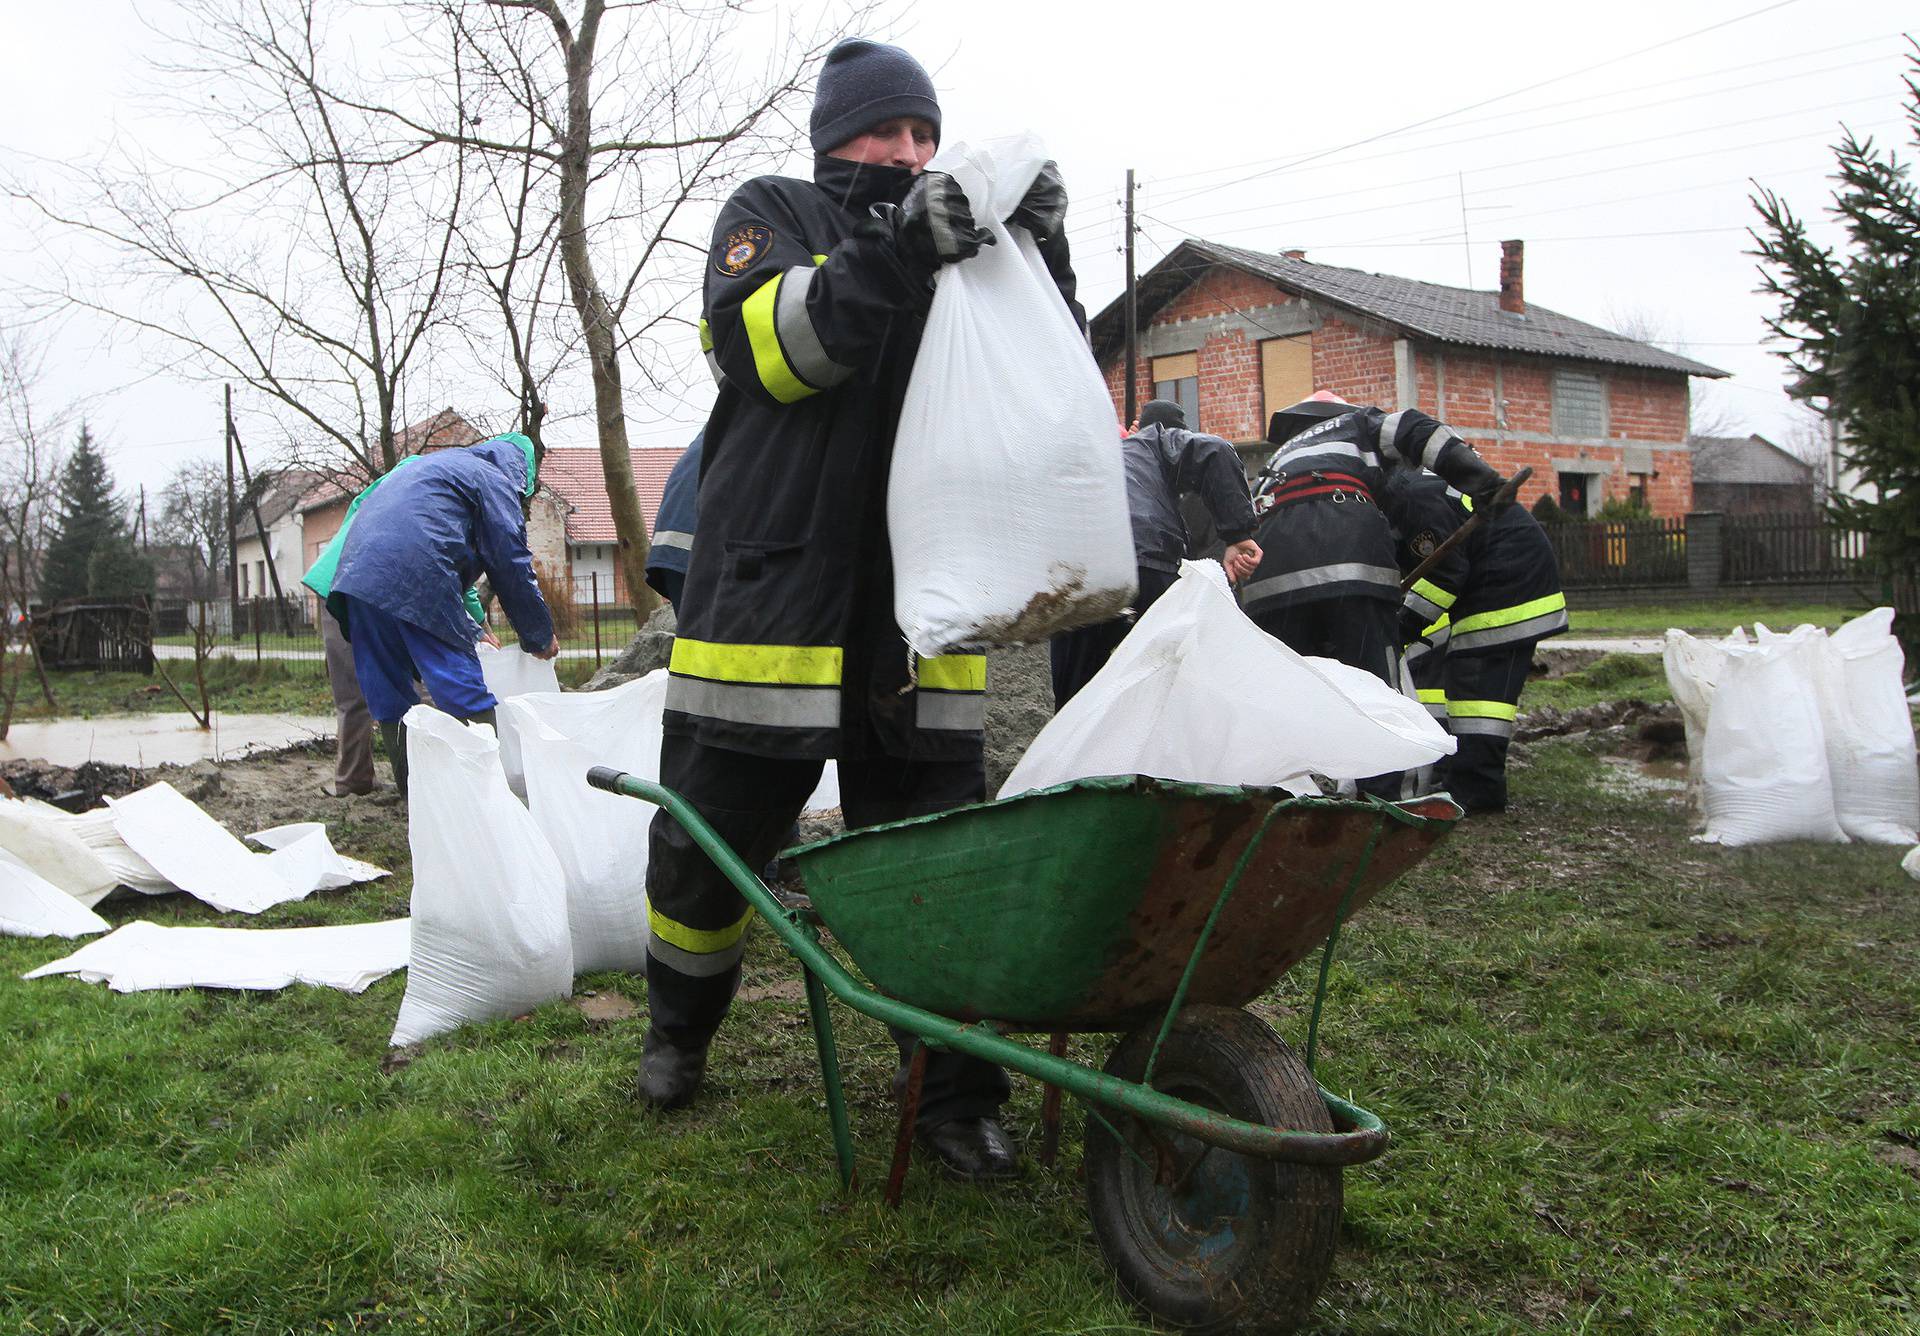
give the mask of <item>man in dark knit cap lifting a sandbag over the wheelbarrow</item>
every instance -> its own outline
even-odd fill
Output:
[[[985,797],[985,656],[910,658],[887,539],[893,434],[935,274],[993,240],[958,184],[924,171],[939,131],[912,56],[841,42],[816,90],[812,180],[749,180],[714,225],[701,342],[722,384],[660,781],[749,868],[778,852],[829,756],[852,827]],[[1035,236],[1071,305],[1064,217],[1048,165],[1010,223]],[[664,812],[647,912],[641,1096],[676,1108],[705,1073],[753,912]],[[1006,1096],[998,1067],[929,1054],[922,1142],[966,1177],[1010,1175]]]

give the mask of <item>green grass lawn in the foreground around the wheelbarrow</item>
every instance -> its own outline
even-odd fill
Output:
[[[1321,1077],[1392,1150],[1346,1175],[1323,1330],[1920,1328],[1920,919],[1897,852],[1688,843],[1532,749],[1342,942]],[[399,912],[401,870],[261,925]],[[361,843],[357,843],[361,841]],[[194,904],[146,916],[215,921]],[[125,910],[123,910],[125,914]],[[115,996],[0,939],[0,1330],[1135,1332],[1066,1163],[887,1211],[893,1046],[841,1025],[843,1198],[795,971],[755,939],[714,1090],[630,1102],[641,1021],[564,1004],[380,1060],[361,996]],[[626,975],[582,987],[639,998]],[[1258,1008],[1302,1035],[1311,966]],[[1094,1054],[1092,1046],[1085,1048]],[[1037,1094],[1016,1129],[1033,1136]]]

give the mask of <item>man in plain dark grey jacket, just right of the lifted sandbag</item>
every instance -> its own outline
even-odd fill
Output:
[[[1254,541],[1254,501],[1246,491],[1246,465],[1233,443],[1187,430],[1187,409],[1171,399],[1148,399],[1135,430],[1119,443],[1127,468],[1127,514],[1133,520],[1133,559],[1140,593],[1133,614],[1054,635],[1054,708],[1079,693],[1119,649],[1133,624],[1173,587],[1187,557],[1187,518],[1181,497],[1198,493],[1225,541],[1221,566],[1240,582],[1260,564]]]

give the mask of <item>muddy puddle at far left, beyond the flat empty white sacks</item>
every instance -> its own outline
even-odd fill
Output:
[[[315,737],[332,737],[332,716],[321,714],[221,714],[202,731],[192,714],[125,714],[104,720],[48,720],[13,724],[0,741],[0,760],[31,758],[56,766],[102,760],[109,766],[184,766],[196,760],[228,760],[248,751],[278,749]]]

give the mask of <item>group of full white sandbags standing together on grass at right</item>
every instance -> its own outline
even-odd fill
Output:
[[[1920,774],[1891,626],[1876,608],[1832,635],[1667,632],[1707,841],[1914,843]]]

